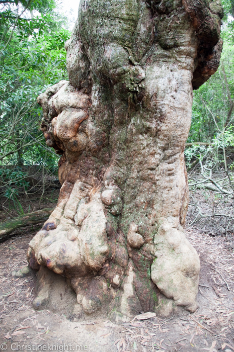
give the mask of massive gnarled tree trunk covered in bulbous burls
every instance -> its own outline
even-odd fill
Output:
[[[86,313],[196,310],[183,152],[192,86],[215,72],[222,46],[221,6],[207,4],[82,0],[69,82],[39,97],[63,186],[28,257],[67,277]]]

